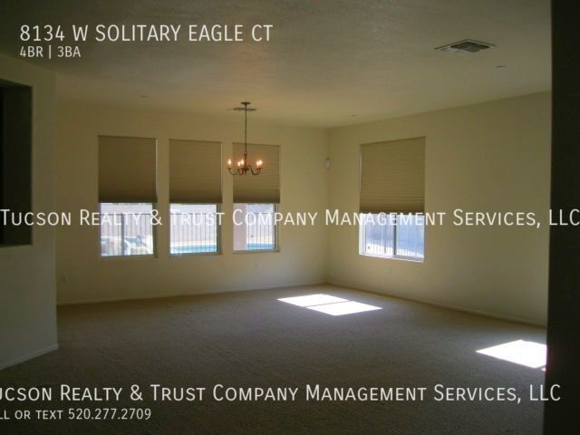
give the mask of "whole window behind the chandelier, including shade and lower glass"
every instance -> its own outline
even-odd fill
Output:
[[[243,144],[234,144],[234,156]],[[234,177],[234,251],[275,251],[275,212],[280,204],[280,147],[247,145],[248,159],[262,160],[260,175]]]

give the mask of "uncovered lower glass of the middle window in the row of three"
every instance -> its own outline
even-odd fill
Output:
[[[171,204],[172,256],[218,253],[221,219],[216,204]]]

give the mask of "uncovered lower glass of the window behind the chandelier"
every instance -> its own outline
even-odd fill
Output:
[[[234,251],[274,251],[275,204],[234,204]]]

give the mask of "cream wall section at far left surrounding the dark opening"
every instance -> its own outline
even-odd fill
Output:
[[[0,55],[0,78],[33,87],[33,210],[53,209],[53,73]],[[0,368],[57,347],[54,232],[0,247]]]

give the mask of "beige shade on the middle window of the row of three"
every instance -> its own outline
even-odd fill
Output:
[[[221,142],[169,140],[169,201],[221,203]]]

